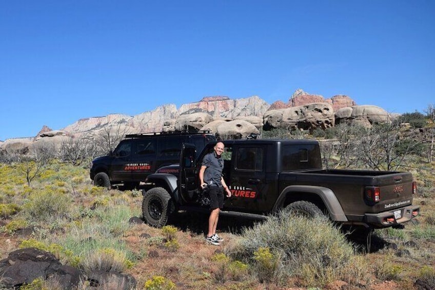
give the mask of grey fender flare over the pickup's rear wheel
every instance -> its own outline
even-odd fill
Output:
[[[343,208],[340,205],[339,200],[335,196],[334,192],[323,186],[312,185],[290,185],[284,188],[280,196],[275,202],[272,211],[276,212],[278,208],[282,206],[287,195],[291,195],[292,192],[307,192],[319,196],[325,204],[331,220],[338,222],[347,222],[347,217],[344,214]]]

